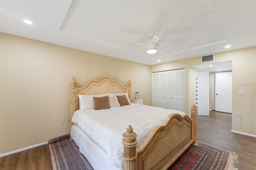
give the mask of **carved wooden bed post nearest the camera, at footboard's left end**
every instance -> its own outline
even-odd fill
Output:
[[[137,145],[137,134],[133,132],[133,128],[129,125],[126,128],[127,132],[123,134],[123,145],[124,145],[124,170],[135,170],[136,167],[136,145]]]

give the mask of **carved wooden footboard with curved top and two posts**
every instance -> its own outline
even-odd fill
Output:
[[[167,169],[191,144],[197,144],[197,108],[187,115],[171,114],[164,125],[156,126],[136,149],[136,133],[129,126],[123,134],[124,170]]]

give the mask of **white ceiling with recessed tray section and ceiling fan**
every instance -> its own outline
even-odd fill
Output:
[[[0,12],[0,32],[147,65],[256,46],[255,0],[1,0]],[[147,54],[158,27],[168,45]]]

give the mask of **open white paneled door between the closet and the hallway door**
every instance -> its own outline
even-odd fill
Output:
[[[209,116],[209,71],[197,72],[198,115]]]

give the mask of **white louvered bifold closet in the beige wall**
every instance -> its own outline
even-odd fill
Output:
[[[185,112],[185,69],[152,73],[152,106]]]

